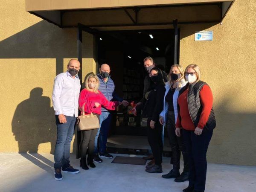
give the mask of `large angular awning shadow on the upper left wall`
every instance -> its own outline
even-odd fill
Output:
[[[55,58],[52,70],[58,75],[64,70],[64,58],[77,58],[76,28],[61,29],[40,21],[0,41],[0,58]]]

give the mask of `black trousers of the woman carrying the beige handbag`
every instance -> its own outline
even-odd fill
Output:
[[[98,133],[98,129],[82,131],[82,134],[83,134],[83,140],[81,145],[82,158],[86,157],[87,148],[88,148],[88,153],[93,154],[94,141],[97,133]]]

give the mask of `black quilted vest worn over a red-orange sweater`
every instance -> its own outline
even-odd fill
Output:
[[[179,92],[179,96],[180,96],[180,94],[183,93],[184,90],[186,90],[189,87],[189,92],[188,92],[189,113],[192,121],[194,122],[195,127],[197,127],[198,125],[200,115],[202,112],[202,105],[200,102],[199,93],[205,84],[207,83],[204,81],[198,81],[197,83],[193,83],[193,84],[188,83]],[[177,109],[178,109],[178,118],[181,120],[179,105],[177,106]],[[212,108],[211,113],[209,115],[209,119],[204,128],[213,130],[215,127],[216,127],[216,120],[215,120],[214,111]]]

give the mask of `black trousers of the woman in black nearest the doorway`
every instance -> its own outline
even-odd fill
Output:
[[[150,118],[148,118],[148,122],[147,122],[148,143],[151,147],[155,164],[161,165],[162,156],[163,156],[163,141],[162,141],[163,125],[161,125],[157,121],[154,125],[154,129],[152,129],[149,123],[150,123]]]

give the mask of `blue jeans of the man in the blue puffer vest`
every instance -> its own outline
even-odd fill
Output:
[[[107,111],[102,111],[102,114],[99,116],[99,130],[95,137],[94,143],[94,153],[105,154],[107,148],[108,140],[108,131],[110,129],[111,123],[111,113]],[[98,145],[99,143],[99,145]]]

